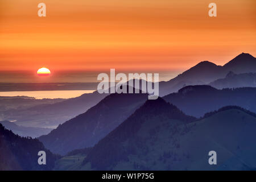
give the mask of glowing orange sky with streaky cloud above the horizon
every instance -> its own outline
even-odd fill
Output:
[[[208,16],[210,2],[217,17]],[[255,56],[255,33],[255,0],[1,0],[0,69],[222,65],[241,52]]]

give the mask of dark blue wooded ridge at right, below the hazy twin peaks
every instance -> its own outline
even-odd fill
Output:
[[[179,107],[185,114],[197,118],[228,105],[256,112],[256,88],[216,89],[210,85],[190,85],[163,98]]]

